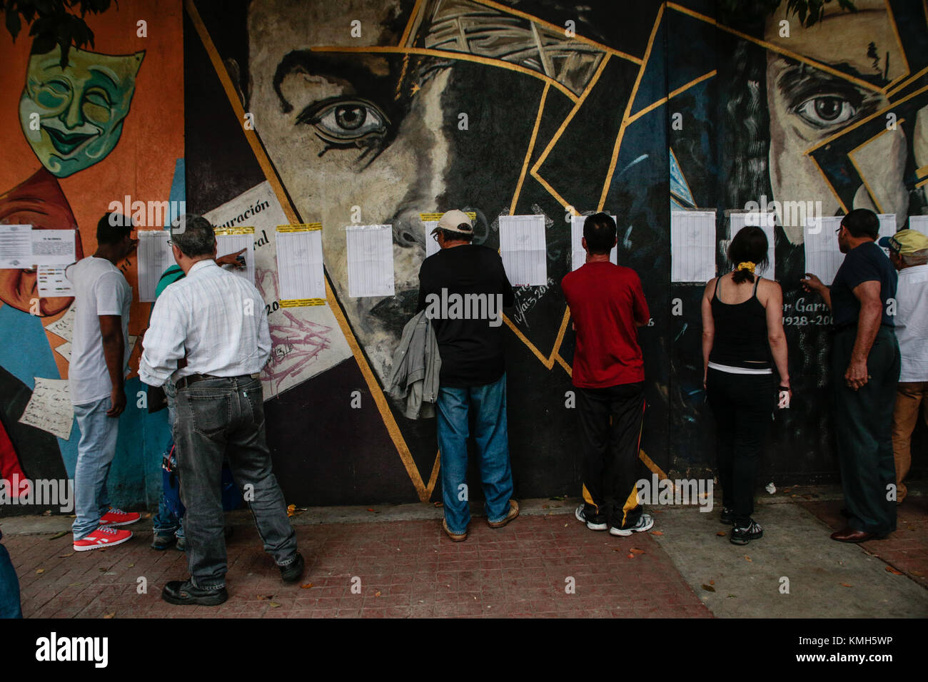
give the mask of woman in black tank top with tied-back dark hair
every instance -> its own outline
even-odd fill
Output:
[[[715,417],[722,522],[732,525],[733,544],[747,545],[764,534],[752,514],[757,466],[776,402],[773,366],[786,405],[790,375],[780,285],[754,275],[768,263],[767,235],[760,227],[741,228],[728,260],[735,270],[710,281],[702,294],[703,385]]]

